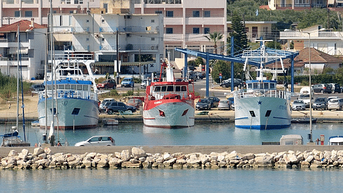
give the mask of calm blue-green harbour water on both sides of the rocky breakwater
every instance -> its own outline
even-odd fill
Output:
[[[314,139],[343,135],[341,124],[314,124]],[[12,125],[1,124],[5,133]],[[40,142],[45,130],[27,126],[31,144]],[[20,132],[20,131],[19,131]],[[93,135],[110,135],[118,146],[261,145],[282,135],[299,134],[306,143],[309,124],[292,124],[282,130],[249,130],[234,124],[196,124],[191,128],[147,128],[119,123],[93,129],[60,131],[69,145]],[[23,133],[20,132],[23,137]],[[286,169],[69,169],[1,170],[0,185],[9,192],[340,192],[341,168]]]

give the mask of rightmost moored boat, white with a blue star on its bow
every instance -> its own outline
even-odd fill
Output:
[[[291,125],[291,93],[287,89],[276,89],[276,71],[273,80],[263,76],[263,62],[267,59],[264,44],[261,50],[245,51],[244,70],[246,71],[246,89],[235,91],[235,126],[250,129],[286,128]],[[273,57],[273,56],[268,56]],[[250,80],[247,69],[248,58],[258,58],[261,65],[257,70],[257,80]],[[274,60],[280,56],[274,56]],[[280,58],[281,59],[281,58]],[[283,68],[283,63],[281,60]],[[284,72],[284,70],[283,70]]]

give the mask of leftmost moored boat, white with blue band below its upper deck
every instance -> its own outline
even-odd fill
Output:
[[[90,67],[94,60],[67,55],[67,57],[65,55],[58,57],[59,60],[56,60],[58,65],[54,68],[56,80],[55,77],[49,77],[44,82],[47,84],[47,91],[39,93],[39,125],[45,128],[45,125],[50,126],[50,123],[54,122],[54,128],[95,128],[99,120],[99,107],[97,87]],[[81,64],[86,66],[87,75],[82,73]],[[52,84],[54,89],[51,89]],[[45,111],[47,111],[47,122]]]

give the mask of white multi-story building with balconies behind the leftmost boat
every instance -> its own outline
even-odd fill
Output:
[[[117,54],[123,73],[160,69],[154,63],[159,64],[163,53],[161,14],[54,14],[53,23],[55,48],[60,52],[70,49],[73,54],[93,54],[99,73],[113,74]],[[141,63],[139,69],[139,56],[149,58],[149,65]]]

